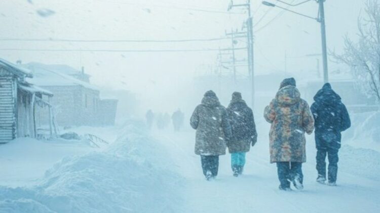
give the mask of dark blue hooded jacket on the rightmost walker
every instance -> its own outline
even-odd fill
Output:
[[[345,104],[331,85],[326,83],[314,96],[311,111],[315,120],[317,149],[340,148],[341,132],[351,127],[350,116]]]

